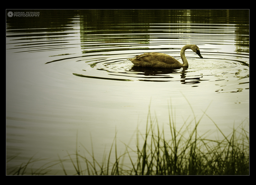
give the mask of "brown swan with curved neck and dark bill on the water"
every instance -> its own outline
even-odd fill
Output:
[[[181,64],[178,60],[174,59],[173,57],[164,54],[164,53],[144,53],[141,55],[136,56],[135,59],[128,59],[131,60],[134,66],[140,67],[156,67],[156,68],[178,68],[178,67],[188,67],[188,61],[185,57],[185,50],[192,49],[200,58],[203,58],[200,54],[199,48],[194,44],[188,44],[183,46],[180,50],[180,57],[183,61]]]

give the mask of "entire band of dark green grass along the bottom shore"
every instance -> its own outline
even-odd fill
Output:
[[[204,115],[208,116],[206,113]],[[229,136],[225,136],[210,118],[224,139],[209,140],[197,133],[197,126],[202,117],[196,121],[194,115],[195,126],[192,131],[188,129],[191,123],[188,125],[185,123],[177,130],[171,112],[168,131],[171,139],[167,140],[165,139],[166,131],[159,129],[157,119],[151,117],[149,110],[145,135],[137,131],[135,149],[125,145],[126,151],[118,156],[115,136],[110,152],[104,155],[102,163],[95,159],[93,147],[90,153],[81,144],[89,154],[89,158],[78,154],[76,147],[75,154],[68,153],[69,159],[65,160],[59,157],[56,164],[61,164],[65,175],[249,175],[249,133],[242,127],[247,118],[239,126],[240,133],[237,129],[233,129]],[[139,143],[140,137],[143,138],[142,145]],[[113,147],[115,147],[115,161],[111,162]],[[128,156],[130,166],[123,165],[121,161],[125,156]],[[75,173],[66,172],[64,167],[66,160],[71,161]],[[10,175],[29,174],[26,169],[31,162],[33,162],[32,158],[27,164],[14,168]],[[45,175],[49,171],[43,168],[31,172],[30,175]]]

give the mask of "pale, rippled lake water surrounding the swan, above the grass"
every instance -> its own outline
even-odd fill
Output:
[[[188,68],[127,60],[160,52],[182,62],[186,44],[203,56],[186,50]],[[19,154],[7,174],[34,155],[44,159],[35,169],[68,159],[76,137],[79,154],[92,141],[99,162],[115,135],[118,153],[136,149],[149,106],[165,137],[171,111],[177,129],[204,115],[198,133],[209,139],[223,139],[209,117],[226,136],[249,132],[249,10],[6,10],[6,158]]]

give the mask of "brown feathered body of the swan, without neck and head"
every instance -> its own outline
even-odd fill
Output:
[[[182,64],[178,60],[164,53],[144,53],[129,60],[131,60],[135,66],[140,67],[182,67]]]

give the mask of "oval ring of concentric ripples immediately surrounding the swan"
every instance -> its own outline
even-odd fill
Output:
[[[124,50],[126,53],[127,50]],[[160,51],[159,51],[160,52]],[[169,82],[169,81],[181,81],[181,79],[197,79],[196,82],[202,81],[200,77],[209,75],[209,72],[213,72],[212,75],[233,74],[233,70],[243,70],[243,68],[249,68],[249,64],[245,62],[248,56],[243,56],[238,60],[240,55],[216,55],[215,53],[204,53],[203,59],[200,59],[188,52],[190,57],[187,57],[189,61],[189,67],[182,67],[178,69],[166,69],[166,68],[142,68],[136,67],[127,58],[131,58],[134,54],[105,54],[101,56],[85,56],[81,60],[76,62],[84,62],[84,67],[73,74],[78,77],[96,78],[104,80],[117,80],[117,81],[152,81],[152,82]],[[179,53],[174,53],[179,55]],[[214,56],[214,57],[212,57]],[[219,57],[219,58],[217,58]],[[179,57],[176,57],[178,60]],[[180,62],[182,62],[180,60]],[[225,72],[226,71],[226,72]],[[198,79],[199,78],[199,79]],[[191,81],[191,80],[190,80]],[[193,81],[194,82],[194,81]]]

